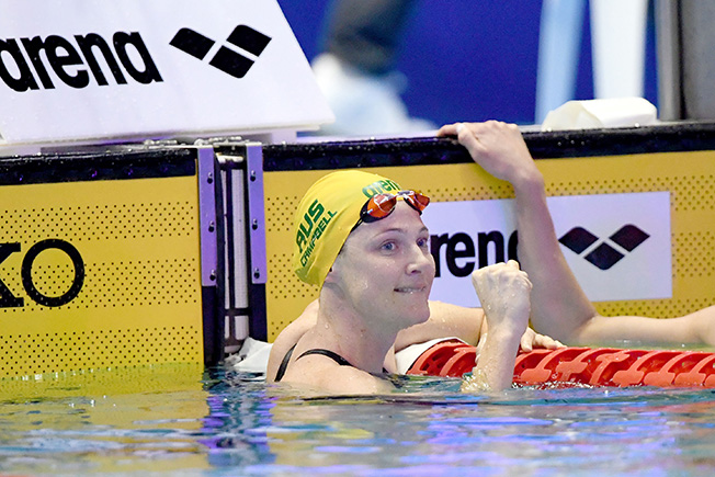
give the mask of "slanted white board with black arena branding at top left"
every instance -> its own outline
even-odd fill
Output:
[[[0,140],[332,121],[275,0],[0,0]]]

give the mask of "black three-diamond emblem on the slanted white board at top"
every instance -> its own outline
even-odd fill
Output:
[[[271,37],[248,25],[238,25],[228,35],[226,41],[258,58],[271,42]],[[169,44],[194,58],[203,60],[216,42],[198,32],[184,27],[177,32]],[[208,60],[211,66],[218,68],[234,78],[243,78],[254,63],[253,59],[225,45],[220,45],[218,52]]]

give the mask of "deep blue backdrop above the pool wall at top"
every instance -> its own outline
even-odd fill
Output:
[[[320,53],[331,0],[279,0],[308,60]],[[652,2],[651,2],[652,3]],[[397,70],[408,79],[410,114],[435,124],[502,120],[534,122],[537,0],[421,0],[405,32]],[[588,8],[576,98],[593,98]],[[652,5],[648,14],[645,98],[656,106]]]

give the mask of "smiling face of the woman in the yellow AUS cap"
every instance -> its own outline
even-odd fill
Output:
[[[350,234],[330,281],[366,320],[387,319],[397,329],[423,322],[434,280],[429,238],[419,213],[398,200],[389,216]]]

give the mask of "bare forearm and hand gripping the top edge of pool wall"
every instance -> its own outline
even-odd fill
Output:
[[[475,162],[513,185],[519,261],[533,284],[532,325],[572,344],[597,311],[566,263],[546,206],[544,178],[519,128],[496,121],[457,123],[443,126],[439,135],[457,136]]]

